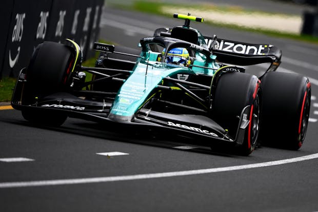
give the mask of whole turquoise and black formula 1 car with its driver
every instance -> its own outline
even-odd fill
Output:
[[[36,124],[73,117],[163,130],[197,145],[226,144],[240,155],[259,140],[299,149],[310,111],[308,78],[275,72],[282,51],[274,46],[203,36],[190,27],[203,18],[173,16],[185,24],[142,38],[139,54],[96,42],[95,67],[82,66],[73,40],[44,41],[18,76],[12,107]],[[245,73],[244,66],[265,62],[271,65],[261,77]]]

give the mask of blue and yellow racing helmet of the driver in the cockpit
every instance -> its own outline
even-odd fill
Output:
[[[163,50],[162,54],[165,54],[166,49]],[[173,63],[176,65],[188,65],[189,52],[185,48],[174,48],[171,49],[166,57],[168,63]]]

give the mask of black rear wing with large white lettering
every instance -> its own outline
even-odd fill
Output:
[[[269,44],[249,44],[204,36],[208,48],[220,62],[240,66],[270,62],[268,71],[274,71],[281,63],[282,50]]]

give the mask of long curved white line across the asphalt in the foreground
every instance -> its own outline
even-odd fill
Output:
[[[318,158],[318,153],[312,154],[312,155],[306,155],[302,157],[297,157],[297,158],[269,161],[264,163],[236,165],[236,166],[228,166],[228,167],[221,167],[221,168],[195,169],[195,170],[180,171],[180,172],[164,172],[164,173],[141,174],[141,175],[61,179],[61,180],[2,182],[0,183],[0,188],[47,186],[47,185],[71,185],[71,184],[81,184],[81,183],[101,183],[101,182],[115,182],[115,181],[124,181],[124,180],[142,180],[142,179],[153,179],[153,178],[164,178],[164,177],[211,174],[211,173],[236,171],[236,170],[249,169],[249,168],[260,168],[260,167],[267,167],[267,166],[274,166],[274,165],[282,165],[282,164],[300,162],[300,161],[311,160],[316,158]]]

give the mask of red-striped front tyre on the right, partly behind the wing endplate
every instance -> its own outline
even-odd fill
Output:
[[[246,126],[243,143],[234,147],[239,155],[249,155],[257,145],[261,107],[260,80],[247,73],[224,73],[216,84],[215,97],[212,105],[212,118],[229,135],[235,138],[241,113],[249,106],[249,124]]]

